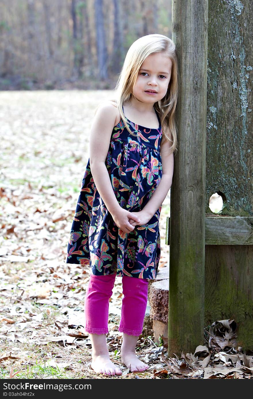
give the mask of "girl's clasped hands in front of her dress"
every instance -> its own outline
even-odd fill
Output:
[[[122,207],[117,208],[112,213],[112,217],[115,224],[119,227],[119,229],[124,231],[124,233],[133,231],[136,225],[145,225],[151,219],[151,216],[144,210],[139,212],[130,212]]]

